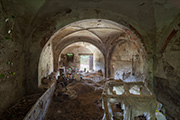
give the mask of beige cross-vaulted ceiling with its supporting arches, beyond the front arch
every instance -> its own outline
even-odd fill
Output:
[[[45,51],[48,47],[51,48],[53,53],[53,58],[46,54],[47,59],[50,59],[53,65],[47,72],[47,67],[49,65],[44,65],[43,70],[41,69],[42,58],[40,58],[39,63],[39,81],[47,73],[54,72],[58,70],[58,60],[59,55],[65,47],[75,42],[88,42],[96,46],[105,57],[105,76],[106,78],[111,77],[110,60],[112,57],[112,52],[116,44],[123,41],[129,41],[136,48],[138,54],[144,56],[141,61],[143,61],[143,73],[145,75],[144,79],[149,79],[148,77],[148,66],[146,64],[146,52],[141,43],[141,40],[133,33],[130,29],[122,26],[113,21],[104,19],[87,19],[74,22],[69,24],[60,30],[58,30],[48,41],[48,43],[43,48],[41,57],[45,55]],[[45,57],[44,57],[45,58]],[[47,60],[46,60],[47,61]],[[46,71],[45,71],[46,69]],[[43,72],[42,72],[43,71]],[[43,73],[43,74],[42,74]],[[40,75],[41,74],[41,75]],[[148,82],[148,81],[147,81]],[[40,83],[40,82],[39,82]]]

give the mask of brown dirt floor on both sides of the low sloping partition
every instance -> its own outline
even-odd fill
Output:
[[[102,120],[102,91],[105,81],[73,81],[66,87],[59,82],[45,120]],[[3,113],[0,120],[22,120],[42,93],[29,95]],[[119,107],[114,106],[116,109]],[[114,118],[116,120],[116,118]],[[136,120],[146,120],[139,116]]]

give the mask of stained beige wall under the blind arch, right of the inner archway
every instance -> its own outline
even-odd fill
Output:
[[[130,76],[138,76],[143,73],[143,63],[141,54],[137,48],[130,42],[118,43],[111,55],[110,69],[111,77],[114,79],[122,79],[137,81]]]

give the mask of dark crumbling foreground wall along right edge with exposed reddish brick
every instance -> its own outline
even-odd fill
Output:
[[[154,56],[154,91],[168,119],[174,120],[180,118],[180,16],[176,11],[177,6],[171,8],[169,1],[158,3],[155,4],[156,14],[168,10],[172,14],[163,14],[161,18],[156,16],[158,30],[157,52]]]

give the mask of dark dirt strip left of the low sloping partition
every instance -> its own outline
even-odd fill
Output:
[[[15,105],[8,108],[2,116],[0,116],[0,120],[23,120],[42,94],[43,93],[36,93],[19,99]]]

